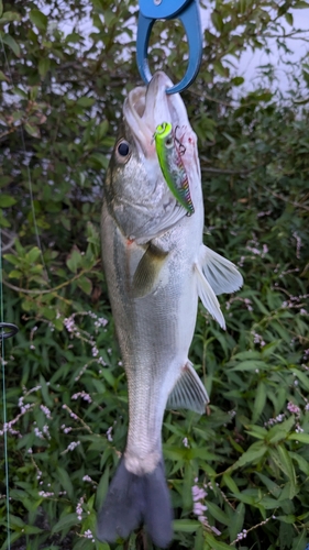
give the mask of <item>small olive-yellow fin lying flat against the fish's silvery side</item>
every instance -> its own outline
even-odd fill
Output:
[[[132,295],[142,298],[155,290],[159,282],[159,273],[168,252],[150,244],[140,261],[133,277]]]

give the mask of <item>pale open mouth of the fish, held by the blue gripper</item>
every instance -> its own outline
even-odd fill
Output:
[[[190,128],[179,94],[166,94],[166,88],[172,86],[168,76],[159,70],[154,74],[148,86],[134,88],[124,101],[124,119],[140,153],[146,157],[155,155],[153,136],[158,124],[170,122],[173,128]]]

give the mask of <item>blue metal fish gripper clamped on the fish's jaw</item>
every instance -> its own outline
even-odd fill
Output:
[[[167,88],[166,94],[184,91],[195,80],[202,56],[202,32],[198,0],[140,0],[140,15],[137,24],[136,61],[140,75],[148,84],[152,74],[148,66],[147,53],[152,28],[157,19],[179,19],[185,28],[188,45],[189,62],[187,73],[177,85]]]

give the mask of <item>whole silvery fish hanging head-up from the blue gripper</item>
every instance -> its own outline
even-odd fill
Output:
[[[97,516],[98,539],[113,542],[145,526],[154,544],[173,539],[162,424],[166,408],[202,415],[205,385],[188,358],[198,297],[225,329],[217,295],[233,293],[242,275],[207,248],[197,136],[178,94],[163,73],[132,89],[107,169],[101,249],[115,332],[126,373],[125,450]],[[163,121],[183,130],[181,162],[195,212],[187,216],[162,173],[154,143]]]

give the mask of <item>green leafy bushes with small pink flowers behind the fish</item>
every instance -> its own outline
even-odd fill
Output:
[[[11,542],[32,550],[110,548],[96,540],[96,510],[124,449],[128,395],[99,217],[123,97],[140,82],[136,8],[0,0],[4,318],[20,327],[5,341],[1,433]],[[225,333],[200,306],[190,359],[211,397],[207,415],[165,416],[175,550],[302,550],[309,541],[308,64],[294,69],[286,98],[272,68],[262,69],[267,86],[250,92],[231,69],[231,56],[266,48],[269,33],[288,51],[291,8],[308,2],[208,2],[202,67],[184,94],[199,138],[205,242],[238,263],[245,284],[221,299]],[[181,37],[178,22],[152,34],[152,68],[175,81]],[[0,449],[3,471],[2,439]],[[0,493],[4,550],[2,479]],[[113,548],[151,546],[139,532]]]

